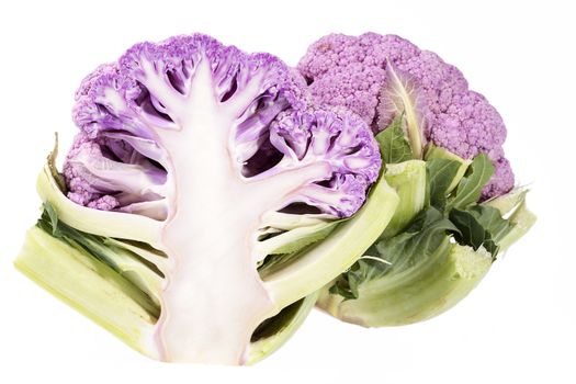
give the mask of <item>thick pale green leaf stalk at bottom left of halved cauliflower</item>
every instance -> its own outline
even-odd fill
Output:
[[[142,291],[106,264],[33,227],[14,266],[135,350],[158,358],[151,347],[156,316],[143,307]]]

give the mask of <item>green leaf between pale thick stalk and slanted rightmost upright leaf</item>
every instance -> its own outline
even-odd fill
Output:
[[[456,177],[460,167],[460,162],[448,159],[431,159],[426,162],[430,205],[440,211],[444,210],[450,185]]]

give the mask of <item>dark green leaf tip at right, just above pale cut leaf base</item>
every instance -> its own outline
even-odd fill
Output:
[[[450,211],[450,221],[459,229],[454,233],[455,240],[463,245],[470,246],[474,250],[484,247],[494,258],[498,253],[498,246],[494,242],[492,235],[486,228],[478,223],[476,217],[466,211]]]

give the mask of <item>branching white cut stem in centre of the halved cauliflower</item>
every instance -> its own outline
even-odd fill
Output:
[[[255,76],[221,103],[206,63],[199,63],[187,95],[144,67],[144,86],[178,126],[154,128],[170,154],[172,185],[160,240],[170,262],[156,340],[167,361],[238,364],[247,359],[253,330],[278,313],[256,268],[261,217],[330,167],[316,162],[263,180],[242,178],[229,137],[262,80]]]

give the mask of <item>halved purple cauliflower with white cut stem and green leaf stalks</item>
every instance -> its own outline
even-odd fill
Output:
[[[398,201],[368,124],[309,100],[268,54],[135,45],[78,90],[16,267],[155,359],[267,355]]]

